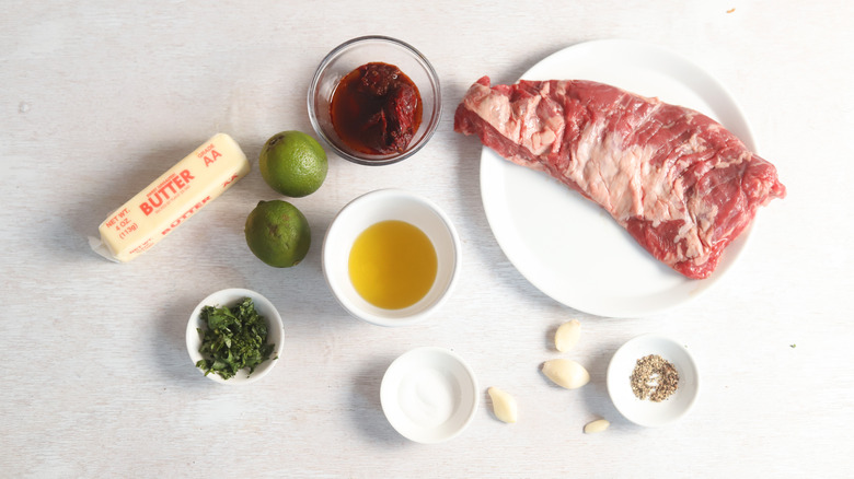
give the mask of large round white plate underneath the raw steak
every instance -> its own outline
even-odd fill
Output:
[[[526,80],[593,80],[700,110],[755,151],[750,128],[726,90],[669,50],[628,40],[579,44],[545,58]],[[510,261],[534,287],[599,316],[639,317],[683,304],[734,264],[749,231],[730,244],[716,271],[690,280],[643,247],[601,208],[549,175],[484,148],[481,196],[489,226]]]

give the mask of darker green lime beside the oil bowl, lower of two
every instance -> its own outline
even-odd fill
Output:
[[[243,229],[252,254],[269,266],[297,266],[309,253],[311,230],[305,215],[293,205],[258,201]]]

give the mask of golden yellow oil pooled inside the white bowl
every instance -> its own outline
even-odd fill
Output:
[[[372,305],[402,309],[424,297],[437,270],[430,238],[405,221],[368,226],[353,243],[349,274],[356,291]]]

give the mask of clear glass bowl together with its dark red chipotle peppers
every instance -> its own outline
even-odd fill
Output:
[[[412,46],[366,36],[333,49],[309,89],[312,127],[354,163],[386,165],[419,151],[441,116],[439,78]]]

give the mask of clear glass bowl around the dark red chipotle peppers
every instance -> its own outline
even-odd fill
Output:
[[[365,63],[383,62],[397,67],[418,87],[422,122],[406,150],[390,154],[367,154],[349,148],[335,132],[331,118],[332,95],[347,73]],[[405,160],[432,137],[441,116],[439,77],[427,58],[411,45],[386,36],[362,36],[343,43],[321,61],[309,87],[311,126],[341,157],[362,165],[388,165]]]

